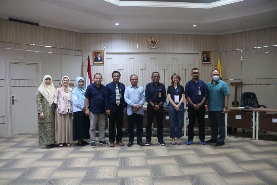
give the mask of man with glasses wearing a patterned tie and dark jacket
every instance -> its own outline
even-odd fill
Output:
[[[121,139],[123,136],[123,114],[126,112],[127,104],[124,102],[125,85],[119,82],[120,72],[112,72],[112,82],[105,87],[105,108],[109,117],[109,146],[116,144],[123,146]],[[116,135],[115,135],[116,122]]]

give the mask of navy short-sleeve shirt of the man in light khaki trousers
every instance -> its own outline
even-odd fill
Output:
[[[96,87],[96,84],[90,84],[86,90],[85,96],[88,97],[88,109],[94,114],[103,114],[105,112],[104,102],[105,86],[100,84],[100,87]]]

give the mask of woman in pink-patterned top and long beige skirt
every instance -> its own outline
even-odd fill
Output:
[[[59,147],[71,146],[72,138],[72,89],[69,87],[69,78],[62,77],[62,83],[55,91],[54,103],[57,104],[55,113],[55,138]]]

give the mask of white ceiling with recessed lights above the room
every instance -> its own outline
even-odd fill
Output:
[[[0,0],[9,17],[79,33],[223,35],[277,26],[277,0]]]

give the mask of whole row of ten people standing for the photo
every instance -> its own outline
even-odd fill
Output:
[[[225,139],[224,114],[227,112],[229,89],[226,82],[219,79],[218,70],[212,71],[212,81],[205,84],[199,79],[199,69],[191,71],[192,80],[185,88],[181,85],[181,77],[174,73],[171,76],[171,85],[167,92],[165,85],[160,83],[159,72],[153,72],[152,82],[144,89],[138,85],[138,76],[130,76],[131,85],[119,82],[119,71],[112,72],[112,82],[104,86],[101,84],[103,77],[100,73],[94,75],[94,83],[87,89],[84,79],[76,79],[76,87],[69,87],[69,77],[64,76],[57,89],[54,88],[51,76],[45,75],[38,88],[38,133],[39,146],[52,147],[58,143],[59,147],[70,146],[73,141],[78,141],[78,146],[89,143],[84,139],[90,138],[91,147],[96,147],[96,123],[98,123],[99,144],[110,147],[116,144],[123,146],[123,116],[127,114],[128,137],[127,146],[134,142],[134,126],[136,125],[137,144],[140,146],[151,145],[152,123],[157,119],[157,138],[160,145],[163,141],[163,104],[168,97],[168,114],[170,119],[170,138],[172,145],[181,145],[182,125],[184,120],[184,98],[188,101],[189,125],[188,141],[192,144],[194,138],[194,121],[199,122],[199,139],[201,145],[216,143],[222,146]],[[205,139],[204,114],[205,104],[208,100],[209,117],[211,122],[211,135],[209,141]],[[146,115],[146,142],[142,141],[143,134],[143,105],[147,104]],[[74,115],[72,120],[72,114]],[[109,119],[109,143],[105,141],[105,116]],[[116,125],[116,130],[115,130]],[[219,130],[218,130],[219,129]],[[218,138],[218,133],[220,137]],[[175,142],[175,138],[177,139]]]

